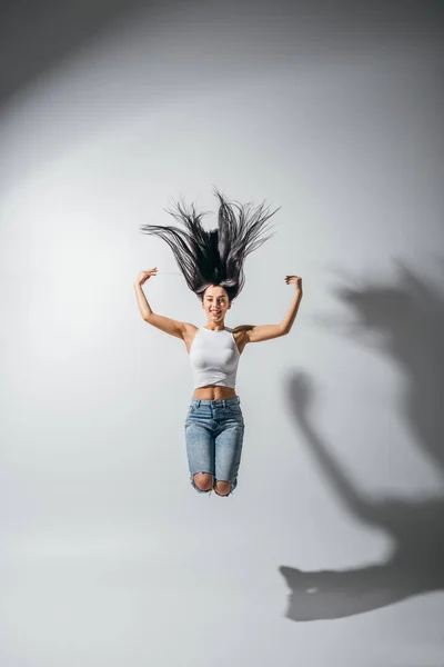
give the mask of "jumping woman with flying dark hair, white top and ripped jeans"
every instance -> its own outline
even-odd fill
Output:
[[[279,325],[243,325],[225,327],[225,316],[244,286],[245,257],[261,246],[270,212],[264,205],[229,202],[219,199],[218,228],[205,231],[194,205],[183,203],[168,211],[185,229],[145,225],[144,233],[161,237],[173,251],[188,287],[199,297],[206,323],[195,327],[153,312],[142,286],[155,276],[158,268],[140,271],[134,281],[142,318],[165,334],[181,338],[189,354],[194,394],[185,419],[186,456],[190,481],[199,492],[214,489],[229,496],[238,485],[244,435],[240,398],[235,391],[240,357],[249,342],[270,340],[289,334],[302,299],[302,279],[286,276],[286,285],[295,286],[292,303]]]

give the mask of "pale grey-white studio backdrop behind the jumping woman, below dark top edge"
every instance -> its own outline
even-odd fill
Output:
[[[6,667],[442,665],[438,573],[400,599],[396,565],[353,584],[443,516],[440,30],[434,3],[334,6],[132,6],[3,100]],[[291,334],[241,360],[229,499],[189,484],[185,348],[132,287],[158,266],[152,308],[203,321],[139,229],[179,195],[215,211],[213,185],[282,207],[228,325],[304,285]],[[281,566],[331,573],[293,618]]]

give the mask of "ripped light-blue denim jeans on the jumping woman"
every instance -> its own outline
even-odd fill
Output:
[[[244,422],[239,396],[221,400],[192,398],[185,419],[186,456],[190,481],[198,472],[208,472],[216,481],[238,486]]]

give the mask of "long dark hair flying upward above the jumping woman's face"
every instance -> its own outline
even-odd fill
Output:
[[[202,218],[183,201],[165,209],[185,229],[160,225],[143,225],[144,233],[157,235],[170,246],[188,287],[201,300],[210,285],[223,287],[230,301],[235,299],[245,282],[243,265],[250,252],[273,235],[263,236],[270,227],[268,220],[279,210],[270,211],[262,202],[258,207],[229,201],[216,188],[219,199],[218,227],[206,231]]]

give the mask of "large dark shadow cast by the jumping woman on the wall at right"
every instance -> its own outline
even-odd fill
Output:
[[[400,278],[394,287],[340,290],[337,296],[357,313],[359,329],[382,335],[384,352],[400,365],[407,380],[405,418],[444,477],[444,300],[413,271],[402,268]],[[295,424],[339,498],[363,522],[385,530],[394,546],[385,561],[355,569],[280,567],[291,590],[285,616],[297,621],[343,618],[444,589],[444,487],[442,495],[424,500],[365,496],[316,432],[310,378],[294,371],[286,394]]]

